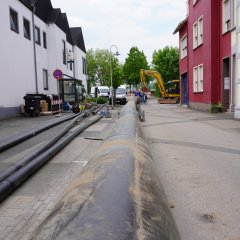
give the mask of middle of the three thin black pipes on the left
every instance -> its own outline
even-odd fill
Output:
[[[28,164],[30,161],[32,161],[34,158],[36,158],[38,155],[46,151],[48,148],[50,148],[54,143],[56,143],[69,129],[71,129],[75,122],[78,121],[80,118],[83,118],[85,116],[85,113],[81,113],[80,115],[75,115],[75,118],[62,130],[60,133],[58,133],[56,136],[54,136],[52,139],[44,143],[42,146],[40,146],[38,149],[36,149],[34,152],[30,153],[28,156],[18,160],[16,163],[5,169],[4,171],[0,172],[0,182],[6,179],[8,176],[16,172],[21,167]]]

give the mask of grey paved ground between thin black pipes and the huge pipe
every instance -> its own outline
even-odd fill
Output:
[[[32,232],[63,196],[69,183],[88,164],[94,149],[111,134],[118,118],[118,111],[116,107],[112,118],[101,119],[76,137],[0,203],[0,240],[28,240],[30,238]],[[1,137],[43,123],[51,117],[0,121]],[[29,149],[26,149],[24,153],[26,154]],[[12,158],[4,158],[0,164],[7,164],[12,161]]]

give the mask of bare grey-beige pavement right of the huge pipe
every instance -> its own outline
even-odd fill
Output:
[[[240,236],[240,121],[179,105],[142,105],[143,131],[183,240]]]

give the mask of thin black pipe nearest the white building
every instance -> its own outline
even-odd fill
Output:
[[[36,126],[28,131],[24,131],[18,134],[14,134],[8,137],[5,137],[3,139],[0,139],[0,153],[4,150],[7,150],[31,137],[34,137],[35,135],[48,130],[51,127],[57,126],[63,122],[69,121],[76,117],[76,114],[71,114],[67,117],[61,117],[57,119],[53,119],[50,121],[45,122],[44,124],[41,124],[39,126]]]

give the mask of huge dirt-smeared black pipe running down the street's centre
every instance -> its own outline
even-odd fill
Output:
[[[180,239],[133,101],[30,239]]]

